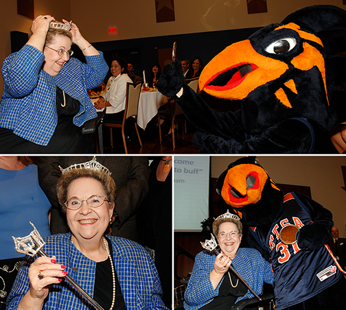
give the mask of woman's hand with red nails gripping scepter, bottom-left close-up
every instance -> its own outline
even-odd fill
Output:
[[[55,257],[38,257],[29,268],[30,297],[44,300],[49,293],[49,285],[58,284],[66,276],[65,265],[56,263]]]

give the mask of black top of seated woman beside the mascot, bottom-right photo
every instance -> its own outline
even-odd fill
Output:
[[[237,283],[238,277],[233,274],[231,270],[228,271],[229,275],[231,276],[231,280],[233,283],[233,286]],[[200,309],[203,310],[229,310],[233,305],[235,305],[235,300],[237,300],[238,297],[244,296],[248,289],[242,283],[242,281],[238,281],[238,285],[236,287],[232,287],[231,282],[229,281],[229,275],[228,272],[224,274],[223,281],[219,288],[219,294],[216,298],[211,300],[209,304],[201,307]]]

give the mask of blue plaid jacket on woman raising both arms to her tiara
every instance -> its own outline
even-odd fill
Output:
[[[80,102],[73,123],[82,126],[97,116],[87,90],[99,86],[108,71],[101,52],[86,56],[87,64],[71,58],[56,76],[41,69],[44,60],[42,51],[25,45],[2,65],[0,128],[12,129],[14,134],[39,145],[47,145],[56,128],[56,86]]]

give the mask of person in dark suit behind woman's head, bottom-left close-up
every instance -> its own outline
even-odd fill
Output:
[[[43,156],[38,159],[38,180],[51,202],[51,234],[68,233],[66,216],[62,214],[56,184],[60,167],[85,163],[93,156]],[[110,235],[137,241],[136,213],[149,191],[149,160],[143,156],[99,156],[97,161],[108,167],[117,186],[117,197]]]

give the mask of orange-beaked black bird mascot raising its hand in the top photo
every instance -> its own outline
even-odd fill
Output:
[[[313,5],[233,43],[213,58],[199,88],[240,102],[216,112],[168,64],[158,88],[197,128],[201,153],[336,153],[329,132],[346,121],[346,11]]]

